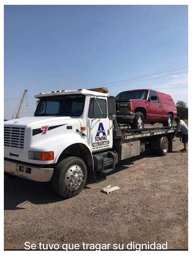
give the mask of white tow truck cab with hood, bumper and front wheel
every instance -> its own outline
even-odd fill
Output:
[[[35,95],[38,105],[34,117],[4,122],[5,173],[48,182],[60,161],[75,156],[95,177],[93,153],[113,147],[113,121],[108,110],[112,99],[115,114],[115,99],[104,91],[60,90]],[[68,177],[71,182],[67,179],[65,183],[68,196],[86,181],[85,166],[81,165],[74,161],[75,169]]]

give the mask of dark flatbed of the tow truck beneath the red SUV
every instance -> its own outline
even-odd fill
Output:
[[[151,148],[158,155],[166,155],[167,152],[172,152],[174,128],[174,126],[143,129],[120,128],[115,121],[113,149],[118,153],[118,160],[138,156],[145,151],[146,147]],[[167,146],[166,143],[164,145],[165,139],[167,139]]]

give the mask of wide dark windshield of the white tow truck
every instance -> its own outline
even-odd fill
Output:
[[[81,116],[84,110],[84,95],[61,95],[43,97],[36,108],[35,116]]]

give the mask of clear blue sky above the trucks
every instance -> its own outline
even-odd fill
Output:
[[[188,104],[187,66],[187,5],[4,7],[6,119],[24,89],[20,116],[33,115],[40,92],[108,83],[110,95],[154,88]]]

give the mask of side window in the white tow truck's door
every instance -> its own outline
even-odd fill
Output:
[[[100,107],[101,110],[99,109],[99,107]],[[103,112],[103,116],[102,116],[101,111]],[[106,100],[105,99],[100,99],[100,98],[97,98],[97,99],[91,98],[90,99],[90,104],[89,104],[88,117],[89,118],[106,118],[107,117]]]

